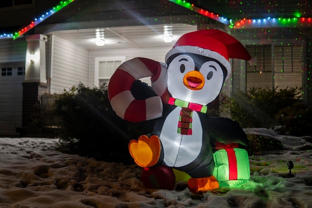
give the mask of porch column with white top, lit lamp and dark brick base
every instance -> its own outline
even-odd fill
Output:
[[[42,34],[26,37],[25,79],[22,83],[22,127],[36,124],[34,119],[41,115],[40,96],[48,90],[45,65],[46,40],[47,36]]]

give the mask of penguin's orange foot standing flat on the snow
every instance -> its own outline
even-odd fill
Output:
[[[205,178],[190,178],[187,181],[188,188],[194,192],[206,192],[219,188],[219,183],[214,176]]]

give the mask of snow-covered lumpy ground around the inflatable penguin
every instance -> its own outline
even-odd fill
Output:
[[[53,150],[58,139],[0,138],[0,208],[311,208],[311,137],[246,132],[270,135],[284,149],[250,156],[251,179],[240,188],[202,194],[185,182],[174,191],[145,189],[137,165],[62,154]]]

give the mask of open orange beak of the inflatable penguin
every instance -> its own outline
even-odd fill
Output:
[[[190,71],[184,75],[183,84],[190,90],[201,90],[204,87],[204,76],[198,71]]]

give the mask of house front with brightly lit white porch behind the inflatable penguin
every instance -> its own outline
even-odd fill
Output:
[[[12,8],[0,5],[0,9],[11,13],[32,9],[40,15],[58,3],[29,2],[21,7],[15,5],[17,10],[12,10],[14,4]],[[59,94],[79,83],[99,86],[109,81],[117,66],[134,57],[163,62],[180,35],[204,28],[229,32],[258,59],[256,66],[230,60],[232,74],[223,87],[224,94],[246,92],[251,87],[299,87],[303,89],[303,102],[312,107],[309,24],[229,27],[172,1],[114,2],[95,0],[90,4],[76,0],[22,36],[0,38],[0,135],[16,136],[16,128],[27,128],[35,122],[34,115],[40,113],[35,105],[43,94]],[[119,15],[115,17],[116,13]],[[2,23],[4,29],[14,26]],[[24,20],[12,24],[27,25]],[[173,36],[170,43],[162,40],[168,30]],[[106,43],[97,47],[94,41],[99,35]],[[87,43],[89,39],[92,44]],[[148,79],[144,81],[149,83]]]

